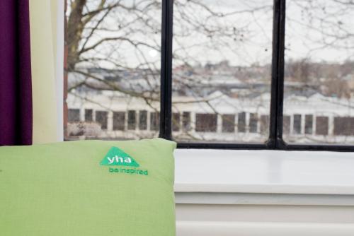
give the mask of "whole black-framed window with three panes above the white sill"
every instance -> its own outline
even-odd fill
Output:
[[[72,2],[67,120],[96,138],[354,151],[351,1]]]

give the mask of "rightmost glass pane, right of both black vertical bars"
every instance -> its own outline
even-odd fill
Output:
[[[285,141],[353,145],[354,2],[288,0],[286,15]]]

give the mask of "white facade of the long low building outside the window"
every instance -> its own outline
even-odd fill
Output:
[[[173,113],[179,113],[179,131],[174,131],[173,135],[177,140],[203,140],[203,141],[251,141],[263,142],[268,138],[268,124],[261,124],[261,116],[269,116],[270,94],[264,93],[256,98],[229,98],[220,92],[215,92],[204,98],[208,102],[195,102],[198,99],[186,96],[173,96]],[[120,92],[103,90],[101,93],[69,93],[67,99],[69,110],[79,110],[79,121],[85,122],[85,110],[93,110],[93,121],[97,121],[96,112],[107,112],[107,127],[102,129],[98,138],[150,138],[158,135],[158,131],[152,130],[151,114],[159,112],[159,102],[145,102],[142,98],[132,98]],[[135,110],[135,129],[128,129],[127,111]],[[147,129],[139,129],[139,111],[147,111]],[[113,112],[125,112],[123,130],[113,129]],[[190,129],[183,129],[183,112],[190,112]],[[239,113],[246,113],[245,131],[239,131]],[[217,114],[217,127],[215,131],[195,131],[198,123],[196,114]],[[234,131],[223,132],[222,115],[234,114]],[[251,114],[256,114],[256,128],[250,130]],[[295,115],[301,115],[301,122],[295,127]],[[305,116],[312,115],[312,124],[306,124]],[[353,143],[354,131],[350,135],[335,135],[335,117],[354,117],[354,99],[338,99],[324,97],[320,94],[312,95],[309,98],[301,96],[289,96],[284,102],[284,116],[290,117],[290,133],[284,133],[285,140],[297,143]],[[326,135],[319,135],[316,127],[317,117],[327,117],[328,129]],[[203,121],[199,121],[203,122]],[[254,125],[254,124],[253,124]],[[262,126],[264,126],[262,128]],[[305,131],[305,126],[312,130]],[[351,127],[351,128],[350,128]],[[348,129],[353,129],[350,126]],[[256,132],[254,131],[256,129]],[[263,130],[262,130],[263,129]],[[295,131],[299,129],[299,132]],[[322,131],[323,133],[323,131]]]

